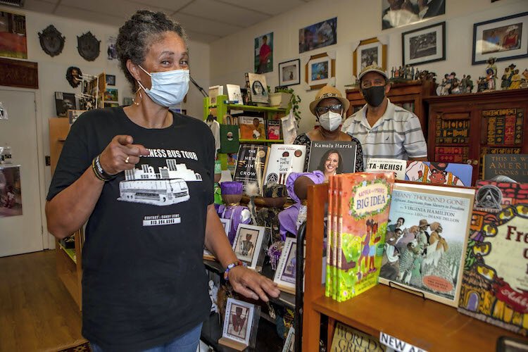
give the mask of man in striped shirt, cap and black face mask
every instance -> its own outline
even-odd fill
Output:
[[[341,130],[359,139],[363,163],[366,165],[368,158],[427,161],[427,144],[420,120],[386,97],[391,85],[385,71],[370,65],[361,71],[358,79],[367,103],[344,122]]]

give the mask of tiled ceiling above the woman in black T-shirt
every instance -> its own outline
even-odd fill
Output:
[[[213,42],[310,0],[25,0],[23,8],[119,27],[137,10],[168,13],[191,40]]]

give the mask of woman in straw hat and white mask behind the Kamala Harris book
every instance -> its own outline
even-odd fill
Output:
[[[308,170],[308,160],[310,158],[310,145],[312,141],[346,141],[356,142],[356,172],[363,171],[363,149],[358,139],[341,132],[339,127],[343,123],[343,116],[348,111],[350,101],[344,98],[339,89],[325,86],[315,94],[315,99],[310,103],[310,111],[315,115],[315,120],[319,126],[314,127],[306,133],[299,134],[294,144],[306,146],[306,159],[304,170]]]

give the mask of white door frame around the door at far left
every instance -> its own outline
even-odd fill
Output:
[[[46,206],[46,170],[45,170],[45,158],[44,158],[44,135],[43,135],[43,123],[42,120],[42,100],[40,89],[28,89],[28,88],[17,88],[0,85],[0,90],[11,91],[11,92],[27,92],[34,94],[34,127],[37,133],[37,170],[39,172],[39,199],[40,199],[40,220],[42,224],[42,248],[43,249],[54,249],[55,240],[54,237],[49,234],[47,230],[46,213],[44,207]],[[47,122],[47,120],[46,120]]]

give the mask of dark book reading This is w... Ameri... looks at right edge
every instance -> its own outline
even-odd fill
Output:
[[[497,176],[517,182],[528,182],[528,154],[484,154],[484,180]]]

